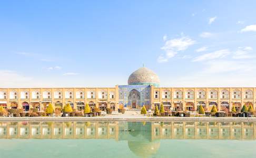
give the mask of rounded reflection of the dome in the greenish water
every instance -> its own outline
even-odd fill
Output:
[[[129,149],[139,157],[149,157],[157,152],[160,142],[128,141]]]

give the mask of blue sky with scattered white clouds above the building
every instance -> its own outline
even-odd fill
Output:
[[[1,87],[256,86],[255,1],[1,1]]]

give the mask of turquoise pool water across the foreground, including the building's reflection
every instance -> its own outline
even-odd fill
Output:
[[[256,124],[2,122],[0,157],[255,157]]]

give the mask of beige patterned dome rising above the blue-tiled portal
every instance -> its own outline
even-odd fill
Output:
[[[141,67],[128,78],[129,85],[155,85],[159,86],[159,77],[149,68]]]

